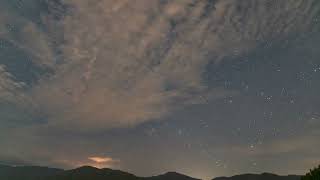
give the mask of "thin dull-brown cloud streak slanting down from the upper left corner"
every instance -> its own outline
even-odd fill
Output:
[[[21,16],[14,9],[11,9],[10,5],[6,5],[5,2],[1,2],[1,4],[3,7],[0,8],[0,39],[11,43],[21,51],[28,52],[28,55],[31,56],[28,60],[34,64],[43,67],[52,66],[55,59],[51,49],[50,36],[37,25],[37,22],[30,20],[34,17]],[[36,7],[36,3],[33,1],[28,4],[31,7]],[[30,11],[37,10],[36,8],[30,9]]]

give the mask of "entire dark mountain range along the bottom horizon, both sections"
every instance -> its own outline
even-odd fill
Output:
[[[1,166],[0,180],[199,180],[168,172],[153,177],[137,177],[133,174],[112,169],[98,169],[84,166],[72,170],[62,170],[36,166]],[[274,174],[243,174],[233,177],[219,177],[213,180],[300,180],[300,176],[277,176]]]

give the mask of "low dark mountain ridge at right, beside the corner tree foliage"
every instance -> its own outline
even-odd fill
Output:
[[[270,173],[263,174],[242,174],[232,177],[218,177],[213,180],[300,180],[301,176],[289,175],[289,176],[278,176]]]

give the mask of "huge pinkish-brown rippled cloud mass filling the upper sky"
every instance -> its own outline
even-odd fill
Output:
[[[319,7],[303,0],[62,3],[70,8],[64,15],[55,11],[57,4],[48,4],[53,14],[43,17],[46,30],[18,18],[21,38],[3,27],[0,37],[52,72],[24,92],[32,111],[41,112],[51,127],[72,130],[133,126],[189,102],[233,93],[207,86],[207,65],[312,31]],[[21,85],[4,76],[3,87]]]

